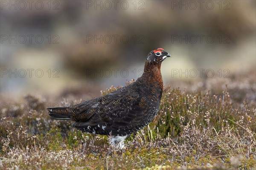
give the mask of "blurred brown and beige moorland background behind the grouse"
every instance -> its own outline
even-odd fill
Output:
[[[165,86],[227,85],[255,102],[255,0],[0,2],[1,101],[91,99],[140,77],[147,54],[164,48]]]

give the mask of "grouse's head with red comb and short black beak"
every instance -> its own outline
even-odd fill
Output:
[[[148,54],[146,62],[148,62],[148,64],[158,65],[161,64],[161,62],[165,60],[166,57],[171,57],[171,55],[164,51],[163,48],[157,48]]]

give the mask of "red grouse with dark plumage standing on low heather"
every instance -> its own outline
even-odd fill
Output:
[[[171,57],[163,48],[151,51],[143,75],[130,85],[104,96],[63,108],[47,108],[51,119],[73,120],[82,132],[111,135],[111,144],[123,147],[131,133],[156,116],[163,92],[161,63]]]

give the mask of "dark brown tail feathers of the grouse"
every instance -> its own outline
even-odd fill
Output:
[[[71,120],[70,108],[47,108],[51,119]]]

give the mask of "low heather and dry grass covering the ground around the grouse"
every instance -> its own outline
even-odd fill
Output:
[[[1,109],[0,167],[253,170],[256,166],[253,75],[251,71],[227,80],[216,79],[217,82],[205,79],[203,83],[211,86],[211,90],[193,91],[189,88],[193,81],[180,82],[187,85],[186,89],[164,87],[158,115],[147,127],[134,133],[122,150],[110,146],[107,136],[81,133],[71,127],[72,122],[49,119],[45,110],[47,99],[27,94],[20,97],[21,103],[30,103],[24,109]],[[232,85],[225,84],[231,80]],[[214,86],[215,83],[219,86]],[[116,88],[119,87],[102,90],[102,95]],[[82,99],[59,101],[66,106]]]

